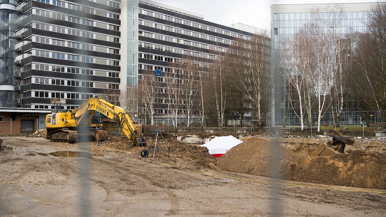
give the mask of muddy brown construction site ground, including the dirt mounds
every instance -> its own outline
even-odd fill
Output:
[[[370,180],[376,176],[373,167],[385,174],[383,143],[358,142],[346,148],[347,157],[311,158],[309,153],[326,139],[254,137],[215,159],[199,144],[178,143],[168,135],[176,159],[168,158],[168,150],[162,149],[166,144],[159,143],[151,161],[154,150],[141,158],[144,148],[130,148],[118,138],[99,146],[25,136],[1,139],[3,216],[386,215],[386,194],[369,192],[385,192],[384,175],[378,182]],[[97,156],[42,154],[56,151]],[[315,175],[320,173],[328,178]],[[350,181],[358,174],[363,178]]]

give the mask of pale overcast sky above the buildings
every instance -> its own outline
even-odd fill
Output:
[[[152,0],[204,15],[209,22],[231,25],[243,23],[260,29],[270,28],[272,4],[359,3],[377,0]]]

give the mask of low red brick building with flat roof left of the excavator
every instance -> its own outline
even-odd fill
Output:
[[[0,108],[0,135],[34,133],[46,129],[46,115],[51,111],[30,108]]]

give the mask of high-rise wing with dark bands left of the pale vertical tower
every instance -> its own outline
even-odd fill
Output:
[[[74,108],[119,89],[120,2],[25,0],[15,10],[14,106]]]

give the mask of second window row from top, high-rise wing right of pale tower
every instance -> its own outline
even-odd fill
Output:
[[[229,44],[229,45],[231,44],[231,41],[227,40],[227,39],[222,39],[222,38],[214,37],[212,35],[206,35],[206,34],[202,34],[202,33],[198,33],[198,32],[192,32],[189,30],[180,29],[180,28],[176,28],[176,27],[166,26],[163,24],[156,24],[156,23],[150,22],[150,21],[139,20],[139,25],[145,25],[148,27],[154,27],[157,29],[167,30],[169,32],[176,32],[179,34],[189,35],[189,36],[193,36],[193,37],[200,38],[200,39],[211,40],[211,41],[218,42],[218,43]],[[182,40],[182,39],[180,39],[180,40]],[[169,40],[169,41],[172,41],[172,40]]]

